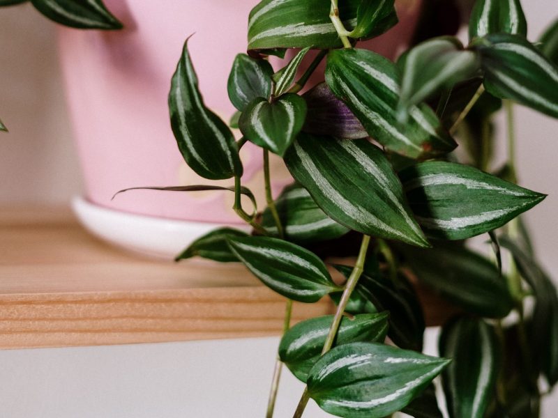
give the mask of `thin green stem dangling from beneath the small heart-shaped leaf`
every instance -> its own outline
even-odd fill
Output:
[[[271,211],[271,215],[273,215],[273,220],[275,220],[277,231],[280,238],[284,238],[284,229],[281,224],[281,219],[277,212],[277,207],[275,205],[275,201],[273,201],[273,194],[271,193],[271,174],[269,171],[269,151],[264,149],[264,183],[266,189],[266,203],[267,207]],[[285,307],[285,320],[283,322],[283,332],[289,330],[290,323],[291,323],[291,314],[292,314],[292,300],[287,299],[287,306]],[[281,379],[281,371],[282,371],[282,362],[277,355],[276,362],[275,362],[275,369],[273,369],[273,379],[271,380],[271,389],[269,391],[269,400],[267,402],[267,412],[266,418],[273,417],[273,410],[275,409],[275,403],[277,400],[277,392],[279,389],[279,381]]]

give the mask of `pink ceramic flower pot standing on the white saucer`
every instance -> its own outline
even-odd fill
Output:
[[[405,0],[405,6],[416,3]],[[207,184],[183,162],[169,124],[167,94],[170,79],[184,40],[199,77],[206,104],[225,121],[234,109],[227,97],[227,77],[234,56],[246,51],[248,13],[256,0],[105,0],[123,22],[123,31],[76,31],[60,29],[60,49],[70,112],[73,116],[77,149],[84,173],[86,199],[80,205],[104,208],[113,214],[143,215],[152,220],[176,219],[186,229],[175,231],[178,248],[149,249],[149,240],[139,244],[122,242],[126,219],[105,226],[102,219],[87,219],[83,207],[77,211],[82,221],[98,235],[126,247],[156,254],[172,255],[191,238],[183,235],[200,222],[212,229],[215,224],[239,224],[228,192],[134,191],[111,201],[114,192],[134,186]],[[416,6],[416,5],[415,5]],[[389,35],[376,40],[384,54],[395,53],[396,45],[408,38],[413,24],[405,22]],[[248,144],[243,148],[243,183],[261,195],[262,153]],[[289,181],[279,159],[272,160],[276,189]],[[219,182],[231,185],[232,180]],[[214,183],[213,183],[214,184]],[[79,206],[79,205],[78,205]],[[91,207],[90,207],[91,209]],[[109,212],[104,212],[110,215]],[[132,215],[130,215],[132,216]],[[142,218],[143,219],[143,218]],[[144,219],[149,220],[149,219]],[[189,224],[185,224],[188,222]],[[114,227],[118,233],[107,236]],[[130,239],[140,224],[130,226]],[[177,225],[176,223],[174,224]],[[165,234],[170,226],[153,226]],[[105,232],[103,232],[105,231]],[[137,230],[136,230],[137,231]],[[163,237],[161,235],[161,237]],[[190,234],[192,235],[192,234]],[[172,245],[171,245],[172,246]]]

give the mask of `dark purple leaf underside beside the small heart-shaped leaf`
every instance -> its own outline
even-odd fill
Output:
[[[342,139],[368,137],[362,123],[347,104],[335,97],[325,83],[317,84],[302,96],[308,114],[302,130],[310,134],[331,135]]]

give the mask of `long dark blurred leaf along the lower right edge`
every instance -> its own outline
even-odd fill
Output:
[[[529,346],[534,351],[531,362],[541,370],[552,387],[558,382],[558,295],[552,280],[533,256],[506,236],[500,245],[511,251],[522,277],[535,295],[535,307],[529,323]]]

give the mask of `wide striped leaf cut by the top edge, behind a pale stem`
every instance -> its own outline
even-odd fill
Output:
[[[349,30],[356,25],[361,0],[339,2]],[[248,18],[248,49],[342,47],[329,19],[331,3],[322,0],[263,0]]]

